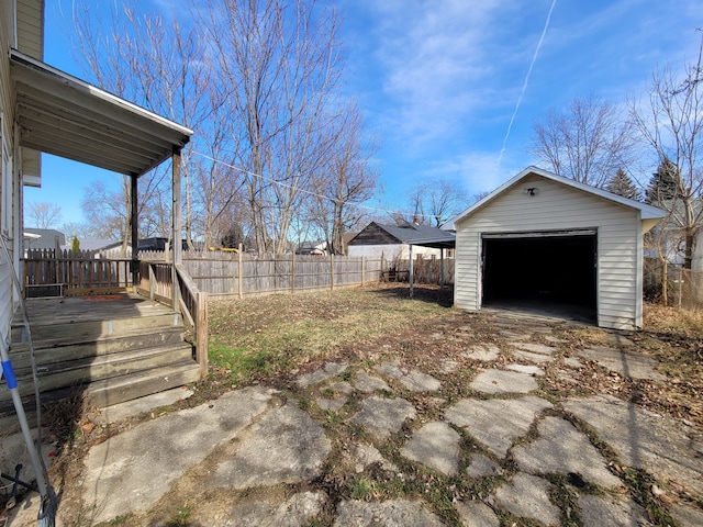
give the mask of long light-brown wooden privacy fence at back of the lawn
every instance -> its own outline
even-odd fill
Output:
[[[140,258],[164,259],[165,253],[140,251]],[[380,258],[346,256],[255,256],[232,253],[183,253],[183,267],[200,291],[212,299],[332,290],[378,282]]]

